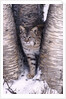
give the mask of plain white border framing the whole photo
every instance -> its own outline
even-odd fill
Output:
[[[3,94],[3,4],[63,4],[63,94]],[[66,99],[65,78],[65,0],[1,0],[0,1],[0,98],[1,99]]]

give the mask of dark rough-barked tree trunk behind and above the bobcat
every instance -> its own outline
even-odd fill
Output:
[[[42,24],[42,4],[13,4],[12,9],[17,26],[24,26],[26,29]]]

